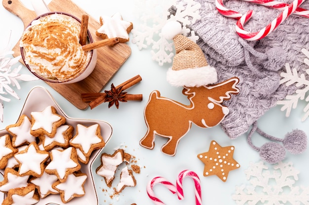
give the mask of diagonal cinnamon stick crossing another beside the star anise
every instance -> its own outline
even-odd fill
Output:
[[[116,89],[122,87],[122,90],[125,90],[127,88],[134,86],[135,84],[137,84],[140,81],[142,81],[142,77],[140,75],[137,75],[137,76],[134,76],[133,78],[121,83],[120,85],[116,86]],[[85,94],[83,96],[85,96]],[[90,96],[88,95],[87,97],[90,97]],[[107,97],[107,94],[105,92],[99,94],[98,97],[96,97],[94,100],[92,100],[89,103],[89,107],[91,109],[93,109],[93,108],[97,107],[98,105],[100,105],[101,103],[104,103],[106,97]]]

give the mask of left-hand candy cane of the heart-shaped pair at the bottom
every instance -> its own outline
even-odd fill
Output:
[[[154,177],[153,180],[148,182],[148,184],[147,184],[147,194],[148,194],[149,198],[153,201],[153,203],[155,205],[165,205],[154,194],[154,185],[158,184],[158,183],[164,185],[173,194],[175,194],[177,192],[177,188],[176,188],[176,186],[174,184],[172,184],[166,178],[161,177],[161,176]]]

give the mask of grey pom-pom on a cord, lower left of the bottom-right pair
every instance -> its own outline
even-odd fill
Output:
[[[284,159],[285,149],[277,143],[270,142],[261,146],[259,154],[264,161],[270,164],[275,164]]]

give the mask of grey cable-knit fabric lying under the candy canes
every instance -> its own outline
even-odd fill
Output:
[[[276,105],[277,100],[295,91],[295,86],[279,86],[279,74],[285,71],[286,62],[299,73],[305,73],[308,68],[301,49],[309,49],[309,19],[291,15],[267,37],[250,42],[239,38],[234,30],[237,20],[221,15],[214,0],[195,1],[201,4],[201,19],[190,29],[199,36],[197,44],[208,63],[217,69],[219,82],[232,76],[240,79],[240,93],[225,102],[230,113],[221,122],[225,133],[234,139],[246,133],[253,122]],[[245,25],[250,32],[264,28],[281,12],[241,0],[224,3],[227,8],[241,13],[250,9],[255,11]],[[301,7],[309,9],[309,1]]]

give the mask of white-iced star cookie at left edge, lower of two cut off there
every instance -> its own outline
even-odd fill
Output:
[[[29,176],[20,176],[17,171],[6,168],[3,180],[0,182],[0,191],[7,193],[10,189],[28,186]]]

